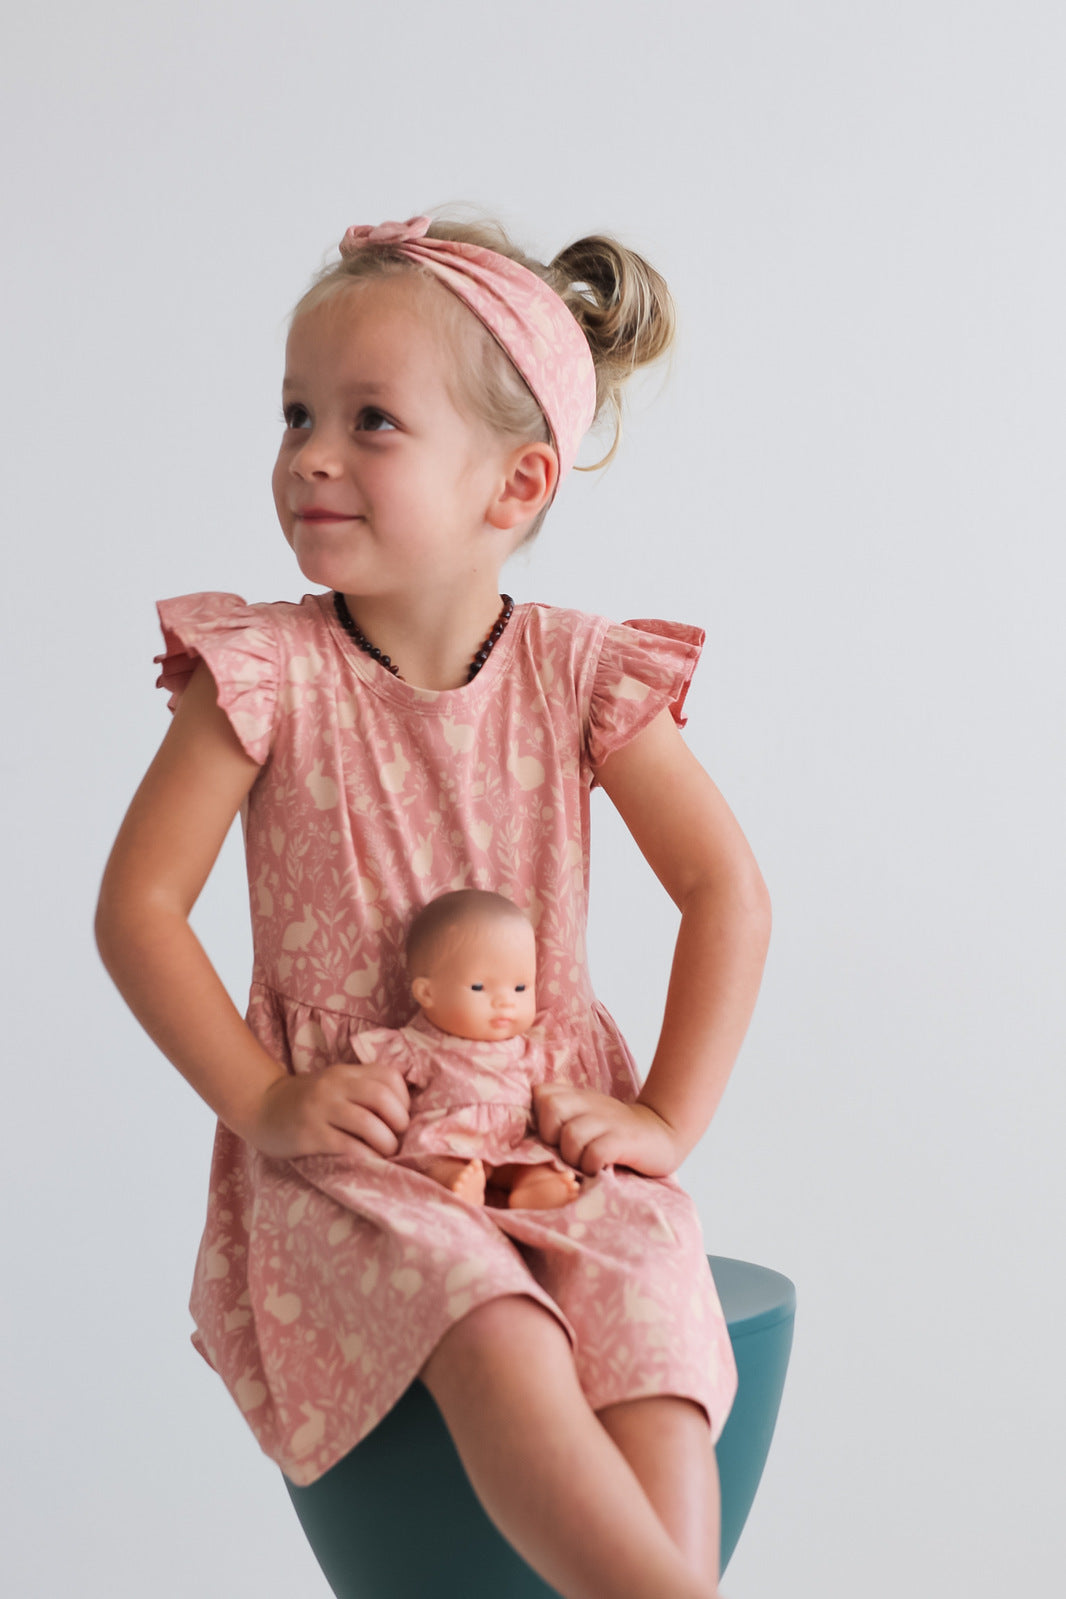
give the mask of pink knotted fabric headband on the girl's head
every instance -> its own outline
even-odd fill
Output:
[[[409,222],[350,227],[340,254],[388,245],[470,307],[529,384],[551,430],[563,480],[596,416],[596,368],[585,334],[535,272],[481,245],[427,238],[428,225],[428,216],[412,216]]]

